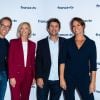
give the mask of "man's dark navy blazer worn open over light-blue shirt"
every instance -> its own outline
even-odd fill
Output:
[[[66,39],[59,37],[59,56],[58,56],[58,66],[59,58],[62,50],[62,46]],[[37,52],[36,52],[36,78],[43,78],[44,81],[48,80],[51,67],[51,57],[49,50],[48,37],[38,41]],[[59,69],[58,69],[59,70]]]

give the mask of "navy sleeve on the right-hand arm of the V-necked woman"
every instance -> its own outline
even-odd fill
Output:
[[[96,45],[95,42],[91,44],[91,52],[90,52],[90,71],[96,71],[97,70],[97,52],[96,52]]]

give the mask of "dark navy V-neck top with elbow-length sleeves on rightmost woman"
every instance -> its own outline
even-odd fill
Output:
[[[80,49],[77,48],[75,37],[70,38],[64,46],[60,63],[66,63],[65,77],[68,75],[89,75],[96,71],[96,45],[87,36]]]

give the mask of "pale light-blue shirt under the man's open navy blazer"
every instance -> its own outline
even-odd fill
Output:
[[[50,56],[51,56],[51,69],[50,69],[49,80],[59,80],[58,77],[59,40],[54,42],[50,38],[48,38],[48,41],[49,41]]]

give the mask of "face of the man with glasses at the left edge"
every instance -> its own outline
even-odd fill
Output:
[[[6,36],[6,34],[9,32],[9,30],[10,30],[10,26],[11,25],[11,23],[10,23],[10,21],[9,20],[3,20],[2,22],[1,22],[1,24],[0,24],[0,34],[2,35],[2,36]]]

